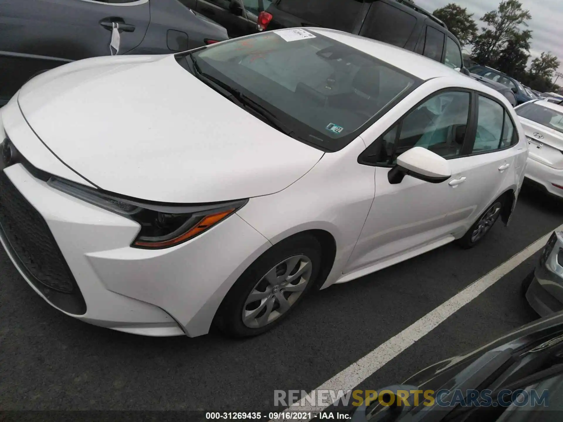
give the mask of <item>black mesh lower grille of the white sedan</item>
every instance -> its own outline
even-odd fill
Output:
[[[86,304],[41,214],[0,170],[0,235],[21,271],[55,306],[83,314]]]

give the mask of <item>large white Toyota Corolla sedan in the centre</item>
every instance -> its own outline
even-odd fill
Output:
[[[67,315],[154,336],[260,334],[313,288],[471,247],[508,222],[528,157],[496,91],[319,28],[73,62],[1,118],[21,275]]]

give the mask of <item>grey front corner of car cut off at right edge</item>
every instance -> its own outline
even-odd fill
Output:
[[[542,250],[534,280],[526,291],[526,300],[542,317],[563,311],[563,262],[557,261],[561,249],[563,231],[554,233]]]

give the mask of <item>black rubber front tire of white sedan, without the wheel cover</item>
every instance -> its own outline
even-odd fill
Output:
[[[266,273],[276,267],[284,259],[303,255],[310,259],[312,269],[309,281],[297,300],[294,301],[288,311],[279,315],[274,321],[261,327],[249,327],[243,322],[243,309],[249,294],[265,277]],[[319,274],[321,265],[321,246],[319,241],[312,235],[296,235],[275,244],[263,253],[246,271],[236,280],[229,293],[223,299],[215,317],[215,325],[220,331],[228,336],[240,338],[259,335],[280,324],[289,313],[295,309],[303,297],[311,290]],[[284,293],[285,294],[285,293]]]

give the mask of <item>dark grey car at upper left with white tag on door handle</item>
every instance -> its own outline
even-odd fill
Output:
[[[74,60],[167,54],[227,38],[178,0],[2,0],[0,107],[34,75]]]

